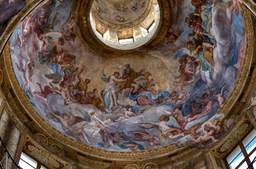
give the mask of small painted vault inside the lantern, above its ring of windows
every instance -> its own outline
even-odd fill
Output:
[[[148,1],[144,0],[113,0],[113,1],[93,1],[93,7],[99,15],[108,22],[125,23],[134,21],[145,11]]]

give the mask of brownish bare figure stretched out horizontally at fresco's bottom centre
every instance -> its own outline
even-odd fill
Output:
[[[132,140],[146,140],[150,144],[151,147],[160,145],[160,140],[155,135],[150,135],[147,132],[141,132],[141,131],[130,131],[128,134],[134,134],[134,138],[128,137]],[[127,136],[126,136],[127,137]]]

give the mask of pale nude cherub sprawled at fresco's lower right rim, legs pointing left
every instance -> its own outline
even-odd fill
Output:
[[[202,144],[208,142],[209,140],[218,141],[218,139],[214,137],[216,135],[215,128],[205,125],[202,131],[205,135],[199,136],[198,138],[189,139],[188,141],[193,141],[197,144]]]

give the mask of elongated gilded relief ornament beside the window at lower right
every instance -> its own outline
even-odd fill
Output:
[[[243,124],[240,128],[238,128],[236,131],[234,131],[228,138],[228,140],[223,144],[223,146],[220,148],[220,151],[226,151],[230,147],[234,146],[234,144],[237,144],[239,140],[243,137],[244,132],[247,131],[249,125]]]

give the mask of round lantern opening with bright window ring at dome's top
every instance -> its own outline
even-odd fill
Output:
[[[159,19],[156,0],[94,0],[90,10],[95,35],[119,50],[134,49],[148,42],[157,30]]]

